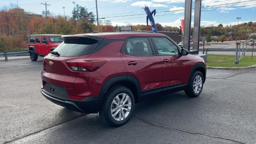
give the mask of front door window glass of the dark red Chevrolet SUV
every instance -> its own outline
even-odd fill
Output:
[[[158,55],[177,55],[179,54],[178,47],[172,43],[168,38],[153,38]]]

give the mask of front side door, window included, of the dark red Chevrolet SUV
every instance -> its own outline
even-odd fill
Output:
[[[168,37],[152,37],[152,41],[156,54],[162,62],[163,86],[171,88],[175,84],[187,84],[189,75],[187,57],[180,55],[180,49]]]

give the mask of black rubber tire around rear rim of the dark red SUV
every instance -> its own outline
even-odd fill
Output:
[[[116,96],[118,96],[118,94],[121,94],[121,93],[125,93],[130,97],[132,105],[131,105],[130,113],[128,114],[128,116],[126,116],[126,118],[124,118],[123,120],[117,121],[112,117],[111,108],[112,108],[112,101]],[[124,86],[114,86],[110,88],[110,90],[108,90],[108,92],[106,93],[106,96],[102,102],[102,106],[100,108],[99,114],[100,114],[100,117],[102,118],[102,121],[105,124],[113,127],[122,126],[123,124],[128,122],[128,120],[131,118],[132,112],[134,111],[134,105],[135,105],[135,100],[131,90],[129,90]]]

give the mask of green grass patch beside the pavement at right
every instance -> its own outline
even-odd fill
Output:
[[[244,67],[256,64],[256,56],[243,56],[239,64],[235,65],[235,56],[207,54],[207,66],[216,67]]]

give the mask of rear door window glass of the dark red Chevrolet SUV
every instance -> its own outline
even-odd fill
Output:
[[[132,56],[152,56],[152,48],[148,38],[129,38],[126,46],[122,49],[122,54]]]

